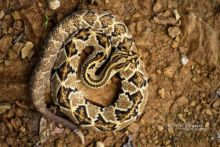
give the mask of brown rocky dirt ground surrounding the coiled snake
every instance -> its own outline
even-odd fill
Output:
[[[46,35],[84,8],[110,11],[125,22],[150,78],[143,115],[116,133],[82,129],[85,145],[220,146],[219,0],[61,0],[56,10],[45,0],[3,0],[0,146],[83,146],[34,110],[28,82]]]

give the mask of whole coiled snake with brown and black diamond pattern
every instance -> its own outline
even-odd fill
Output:
[[[92,51],[84,61],[85,48]],[[113,77],[120,82],[110,106],[90,102],[77,87],[81,81],[99,90]],[[46,85],[54,103],[71,121],[50,112],[45,103]],[[109,12],[76,11],[49,34],[30,82],[37,110],[45,117],[74,130],[84,142],[76,124],[100,131],[117,131],[134,122],[147,101],[147,76],[134,41],[123,22]]]

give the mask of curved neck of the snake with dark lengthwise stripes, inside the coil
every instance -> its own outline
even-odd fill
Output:
[[[90,88],[100,88],[106,85],[116,73],[126,66],[125,58],[114,56],[114,59],[91,58],[81,66],[81,80]]]

